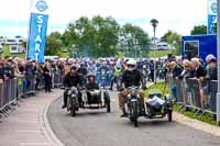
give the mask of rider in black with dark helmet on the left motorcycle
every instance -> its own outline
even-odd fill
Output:
[[[72,66],[70,71],[64,77],[64,86],[67,88],[77,87],[80,83],[79,75],[77,72],[77,67]],[[64,105],[62,109],[67,106],[67,90],[64,91]]]

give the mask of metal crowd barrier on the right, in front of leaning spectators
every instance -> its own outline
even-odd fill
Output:
[[[180,112],[189,108],[196,110],[195,116],[201,116],[206,112],[216,114],[217,80],[208,81],[208,93],[204,93],[204,87],[197,79],[173,79],[170,85],[176,86],[176,104],[182,105]],[[208,106],[205,105],[205,100],[209,101]]]

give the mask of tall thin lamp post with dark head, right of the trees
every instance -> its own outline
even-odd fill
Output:
[[[156,37],[156,26],[158,25],[158,21],[156,19],[152,19],[151,20],[151,24],[153,26],[153,31],[154,31],[154,83],[156,83],[156,42],[155,42],[155,37]]]

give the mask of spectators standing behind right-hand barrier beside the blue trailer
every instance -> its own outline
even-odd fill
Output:
[[[176,61],[176,59],[169,60],[164,64],[164,68],[168,70],[167,77],[170,79],[196,79],[199,81],[199,97],[205,108],[210,106],[210,80],[217,80],[217,58],[213,55],[208,55],[206,61],[200,58],[191,58],[190,60],[184,59],[183,61]],[[187,86],[187,85],[186,85]],[[172,85],[172,93],[177,100],[176,85]]]

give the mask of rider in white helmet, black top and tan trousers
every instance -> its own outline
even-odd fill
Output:
[[[122,117],[127,116],[127,111],[124,108],[125,99],[129,94],[129,91],[127,88],[135,86],[140,87],[140,83],[142,83],[142,88],[145,89],[145,82],[142,80],[142,74],[136,69],[136,61],[133,59],[130,59],[127,63],[128,69],[123,71],[121,83],[124,83],[125,89],[119,93],[119,106],[122,110]],[[144,93],[143,91],[139,91],[141,97],[141,106],[142,112],[144,113]]]

